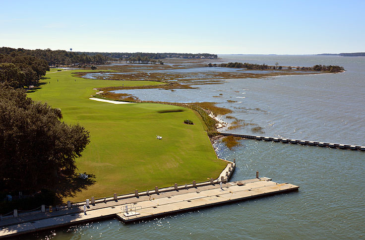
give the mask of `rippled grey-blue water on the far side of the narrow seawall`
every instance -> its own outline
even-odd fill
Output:
[[[263,127],[259,135],[365,145],[365,58],[322,56],[220,56],[222,62],[340,65],[336,74],[226,79],[199,89],[121,90],[141,100],[216,102],[232,116]],[[207,67],[209,68],[209,67]],[[222,95],[220,95],[222,94]],[[235,101],[229,103],[227,101]],[[226,120],[230,121],[230,120]],[[231,132],[253,134],[251,127]]]

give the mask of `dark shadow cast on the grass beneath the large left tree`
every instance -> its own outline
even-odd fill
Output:
[[[61,178],[55,189],[56,203],[61,204],[62,199],[76,196],[76,194],[95,184],[95,182],[95,175],[93,174],[88,174],[87,179],[81,179],[77,174]]]

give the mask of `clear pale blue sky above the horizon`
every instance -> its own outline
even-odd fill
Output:
[[[365,52],[365,1],[0,0],[0,47],[85,52]]]

